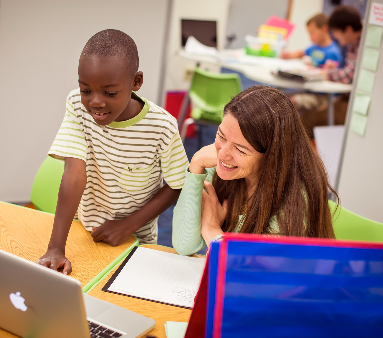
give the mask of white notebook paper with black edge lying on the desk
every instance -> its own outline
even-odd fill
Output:
[[[103,291],[191,308],[206,259],[135,247]]]

